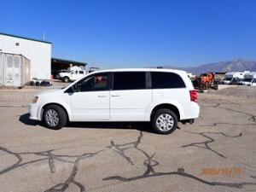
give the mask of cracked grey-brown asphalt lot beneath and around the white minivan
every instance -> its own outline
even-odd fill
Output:
[[[200,94],[200,118],[167,136],[148,124],[49,130],[28,119],[41,90],[0,90],[2,192],[256,191],[256,88]]]

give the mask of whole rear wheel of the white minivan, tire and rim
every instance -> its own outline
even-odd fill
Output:
[[[177,128],[177,115],[167,108],[159,109],[151,120],[154,131],[170,134]]]

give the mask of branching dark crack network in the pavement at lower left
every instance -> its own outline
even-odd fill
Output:
[[[48,160],[49,170],[51,173],[55,173],[55,160],[73,164],[72,172],[70,173],[69,177],[67,177],[67,179],[63,183],[57,183],[57,184],[55,184],[55,186],[44,190],[44,192],[64,192],[66,189],[68,189],[68,187],[71,183],[76,185],[79,188],[80,192],[84,192],[85,191],[84,185],[75,180],[75,177],[79,170],[79,161],[84,160],[86,158],[93,157],[96,154],[99,154],[103,151],[103,150],[100,150],[96,153],[85,153],[85,154],[81,154],[81,155],[59,155],[59,154],[53,154],[53,151],[54,151],[53,149],[48,150],[48,151],[42,151],[42,152],[25,152],[25,153],[15,153],[15,152],[10,151],[9,149],[3,148],[3,147],[0,147],[0,150],[2,150],[3,152],[5,152],[7,154],[14,155],[17,159],[15,164],[0,171],[0,175],[2,175],[3,173],[6,173],[6,172],[13,171],[20,166],[25,166],[28,164],[32,164],[32,163],[36,163],[36,162],[44,161],[44,160]],[[30,160],[30,161],[22,163],[23,159],[21,156],[24,154],[34,154],[34,155],[38,155],[38,156],[43,156],[44,158],[41,158],[38,160]],[[75,160],[65,160],[63,158],[69,158],[69,159],[75,159]]]

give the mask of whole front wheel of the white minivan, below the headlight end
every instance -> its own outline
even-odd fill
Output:
[[[59,130],[67,124],[67,113],[57,105],[49,105],[44,109],[44,125],[53,130]]]

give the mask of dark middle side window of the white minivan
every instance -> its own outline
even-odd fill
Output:
[[[145,72],[113,73],[113,90],[143,90],[146,89]]]

